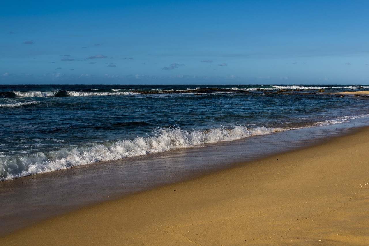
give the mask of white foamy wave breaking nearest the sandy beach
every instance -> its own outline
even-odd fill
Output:
[[[114,143],[63,148],[49,152],[37,152],[32,155],[0,156],[0,181],[15,179],[36,173],[46,173],[72,166],[85,165],[103,160],[118,160],[130,156],[186,148],[247,138],[254,135],[272,134],[283,128],[247,128],[237,126],[233,129],[214,128],[206,132],[184,131],[177,127],[161,128],[154,136]]]

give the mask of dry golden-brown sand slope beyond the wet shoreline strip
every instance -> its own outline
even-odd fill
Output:
[[[4,245],[368,245],[369,128],[56,216]]]

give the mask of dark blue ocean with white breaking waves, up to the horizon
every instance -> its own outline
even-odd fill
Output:
[[[368,85],[0,85],[0,181],[369,116]]]

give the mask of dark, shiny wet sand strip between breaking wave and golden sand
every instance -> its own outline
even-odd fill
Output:
[[[368,126],[366,117],[0,182],[0,236],[92,204],[314,146],[364,126]]]

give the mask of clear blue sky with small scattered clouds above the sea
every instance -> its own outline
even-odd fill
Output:
[[[369,1],[1,5],[1,84],[369,84]]]

